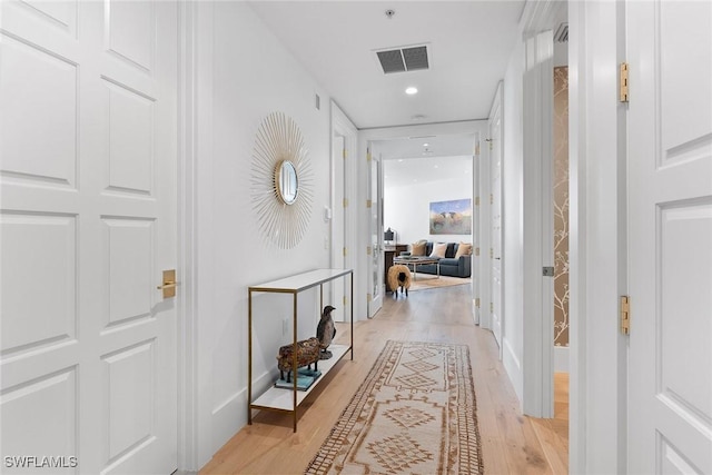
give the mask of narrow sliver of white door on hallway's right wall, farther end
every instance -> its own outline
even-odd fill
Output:
[[[497,96],[500,98],[501,96]],[[490,113],[490,263],[492,283],[490,284],[490,311],[492,331],[500,345],[502,357],[502,107],[495,100]]]

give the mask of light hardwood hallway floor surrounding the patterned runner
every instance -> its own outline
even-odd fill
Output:
[[[556,375],[554,419],[523,416],[498,360],[492,333],[472,320],[468,286],[411,291],[384,298],[370,320],[354,325],[354,360],[346,356],[291,416],[255,413],[200,471],[211,474],[300,474],[356,392],[388,339],[458,343],[469,346],[477,420],[486,474],[567,473],[567,375]],[[337,339],[348,337],[337,326]]]

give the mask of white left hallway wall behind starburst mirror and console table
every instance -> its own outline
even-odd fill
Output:
[[[245,2],[200,2],[197,22],[198,281],[197,466],[247,422],[247,287],[328,267],[324,237],[329,204],[329,98]],[[315,108],[315,93],[322,110]],[[261,120],[283,111],[299,126],[314,170],[314,209],[293,249],[277,248],[258,230],[250,206],[251,152]],[[316,293],[300,295],[299,337],[316,328]],[[290,298],[255,299],[253,377],[256,392],[273,383],[275,356],[290,342],[283,318]],[[314,318],[309,320],[310,318]],[[289,325],[291,328],[291,326]],[[190,468],[190,467],[187,467]]]

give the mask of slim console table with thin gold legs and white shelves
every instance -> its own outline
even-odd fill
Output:
[[[332,357],[319,360],[322,376],[314,382],[307,390],[297,390],[297,298],[299,293],[319,286],[319,309],[324,308],[324,284],[342,278],[350,277],[350,344],[329,345]],[[294,432],[297,432],[297,407],[318,386],[324,376],[336,366],[336,364],[350,352],[354,359],[354,271],[352,269],[316,269],[279,280],[250,286],[247,289],[247,318],[248,318],[248,370],[247,370],[247,423],[253,424],[253,409],[266,409],[290,413],[293,415]],[[293,324],[294,324],[294,359],[293,359],[293,390],[270,387],[263,395],[253,400],[253,294],[273,293],[293,295]],[[276,349],[276,348],[275,348]]]

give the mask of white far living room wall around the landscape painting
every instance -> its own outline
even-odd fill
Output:
[[[472,158],[472,157],[471,157]],[[443,161],[447,157],[443,157]],[[385,160],[384,167],[388,166]],[[447,175],[441,166],[439,171]],[[389,186],[384,182],[384,227],[398,232],[398,244],[411,244],[418,239],[442,243],[472,243],[469,235],[431,235],[429,207],[432,201],[449,201],[472,198],[472,175],[452,170],[447,178],[419,181],[413,185]],[[473,226],[476,226],[473,222]]]

